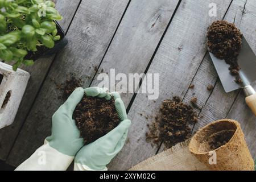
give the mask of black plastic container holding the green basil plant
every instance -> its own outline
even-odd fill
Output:
[[[56,21],[54,21],[54,22],[56,23],[56,28],[58,31],[57,35],[60,35],[60,40],[57,40],[55,42],[55,46],[53,48],[47,48],[45,46],[42,46],[42,47],[37,47],[38,51],[36,51],[36,52],[28,51],[28,54],[25,57],[25,59],[36,61],[38,59],[51,56],[51,55],[59,52],[61,49],[63,49],[68,44],[68,39],[65,36],[64,30],[60,27],[59,23],[57,23]]]

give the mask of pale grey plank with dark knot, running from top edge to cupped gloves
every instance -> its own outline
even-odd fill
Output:
[[[178,2],[131,1],[92,86],[100,82],[97,80],[100,73],[110,73],[113,68],[115,75],[124,73],[127,77],[129,73],[144,73]],[[133,94],[121,94],[121,97],[128,106]]]

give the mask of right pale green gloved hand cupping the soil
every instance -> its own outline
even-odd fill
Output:
[[[75,156],[75,170],[103,170],[106,169],[106,165],[109,164],[114,156],[121,151],[125,144],[131,121],[127,119],[125,105],[117,92],[106,93],[99,88],[87,88],[85,93],[87,96],[104,97],[106,100],[113,96],[115,109],[121,120],[115,129],[95,142],[82,147]]]

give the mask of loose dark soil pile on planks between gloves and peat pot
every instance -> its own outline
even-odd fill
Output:
[[[197,122],[197,114],[189,105],[181,102],[179,97],[163,101],[156,121],[148,125],[146,141],[152,144],[164,143],[166,148],[171,148],[177,143],[184,142],[191,137],[189,123]]]

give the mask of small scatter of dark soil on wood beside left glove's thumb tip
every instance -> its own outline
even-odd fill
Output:
[[[67,80],[62,84],[56,84],[57,88],[61,90],[61,95],[59,98],[63,101],[67,100],[71,93],[82,86],[82,81],[80,78],[76,78],[75,75],[71,74],[68,76]]]

